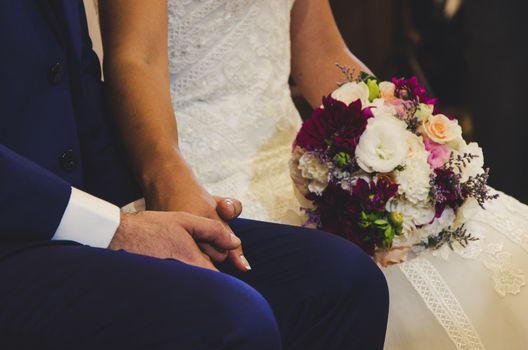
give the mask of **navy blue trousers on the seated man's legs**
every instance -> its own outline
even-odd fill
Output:
[[[0,349],[383,348],[387,285],[355,245],[298,227],[232,227],[248,273],[72,242],[4,256]]]

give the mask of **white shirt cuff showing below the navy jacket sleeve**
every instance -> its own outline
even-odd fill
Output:
[[[68,206],[52,240],[107,248],[120,223],[117,206],[72,187]]]

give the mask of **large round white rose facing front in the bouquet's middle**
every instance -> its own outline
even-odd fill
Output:
[[[358,165],[367,173],[388,173],[407,156],[405,123],[394,117],[370,118],[356,148]]]

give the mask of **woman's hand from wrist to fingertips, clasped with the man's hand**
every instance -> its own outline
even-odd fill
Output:
[[[169,175],[163,170],[165,169],[158,171],[154,185],[145,189],[147,209],[187,212],[217,221],[232,232],[227,222],[237,218],[242,212],[242,204],[238,200],[211,196],[198,183],[187,165],[171,169]],[[229,258],[239,270],[251,270],[242,246],[225,249],[211,242],[198,242],[198,245],[214,262]]]

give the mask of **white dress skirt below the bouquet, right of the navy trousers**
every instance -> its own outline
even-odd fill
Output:
[[[526,206],[502,195],[468,225],[481,236],[480,254],[428,254],[384,269],[391,301],[386,349],[524,349],[528,253],[518,243],[528,237],[526,214]]]

